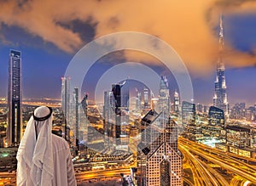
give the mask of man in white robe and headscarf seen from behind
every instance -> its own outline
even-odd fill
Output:
[[[68,144],[51,130],[51,108],[38,107],[27,122],[18,149],[18,186],[77,185]]]

